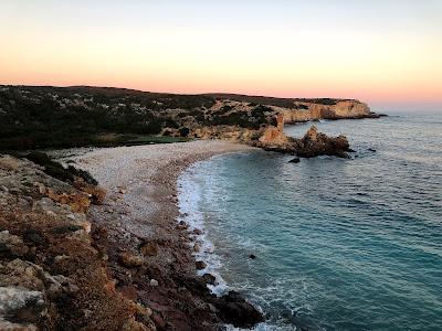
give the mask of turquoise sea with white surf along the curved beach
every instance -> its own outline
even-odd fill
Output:
[[[252,151],[181,177],[218,290],[259,305],[257,330],[442,330],[442,116],[315,125],[357,158]]]

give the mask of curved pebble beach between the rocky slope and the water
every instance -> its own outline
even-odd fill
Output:
[[[149,307],[157,330],[214,330],[228,323],[220,319],[220,311],[225,316],[222,306],[209,302],[213,295],[197,275],[194,234],[179,223],[178,179],[196,162],[253,149],[199,140],[98,149],[69,158],[107,190],[104,204],[90,212],[93,224],[107,233],[97,245],[106,250],[117,290]],[[143,266],[125,265],[122,254],[129,260],[143,258]]]

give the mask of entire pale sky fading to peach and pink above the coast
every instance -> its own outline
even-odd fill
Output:
[[[442,0],[0,0],[0,84],[442,111]]]

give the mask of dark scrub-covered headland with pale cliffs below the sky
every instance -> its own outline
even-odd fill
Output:
[[[0,149],[112,146],[147,136],[249,141],[275,127],[278,114],[286,122],[375,116],[349,99],[0,86]]]

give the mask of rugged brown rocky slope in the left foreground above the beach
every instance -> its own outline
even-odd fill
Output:
[[[78,189],[95,185],[48,171],[0,156],[0,330],[155,330],[96,248],[87,210],[98,201]]]

